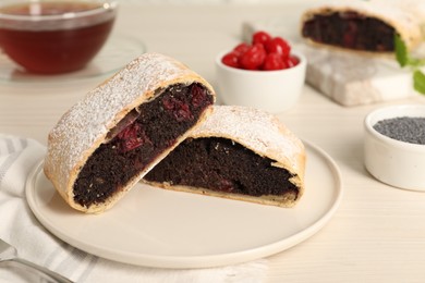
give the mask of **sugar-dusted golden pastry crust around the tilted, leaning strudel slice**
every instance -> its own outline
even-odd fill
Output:
[[[187,133],[134,176],[122,190],[105,202],[94,204],[88,208],[75,202],[73,194],[74,183],[85,162],[106,140],[109,131],[132,109],[155,99],[160,95],[159,89],[174,84],[192,83],[204,85],[215,99],[212,87],[184,64],[162,54],[145,53],[89,91],[83,100],[64,113],[49,133],[44,165],[46,176],[64,200],[71,207],[89,213],[101,212],[117,202],[153,165],[183,140]],[[207,109],[202,114],[196,125],[209,111]]]

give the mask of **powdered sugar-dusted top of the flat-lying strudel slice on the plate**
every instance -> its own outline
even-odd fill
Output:
[[[254,108],[216,106],[205,123],[190,136],[230,138],[295,171],[303,168],[300,162],[305,151],[302,142],[275,115]]]

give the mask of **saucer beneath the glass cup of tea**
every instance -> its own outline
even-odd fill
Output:
[[[75,83],[75,81],[110,75],[145,51],[145,45],[138,39],[112,34],[99,53],[83,70],[58,75],[37,75],[16,65],[0,49],[0,84],[13,84],[14,86],[62,85],[63,83]]]

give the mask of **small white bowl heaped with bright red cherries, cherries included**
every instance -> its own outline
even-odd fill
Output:
[[[292,109],[302,94],[306,58],[282,37],[253,34],[216,58],[218,97],[224,104],[255,107],[271,113]]]

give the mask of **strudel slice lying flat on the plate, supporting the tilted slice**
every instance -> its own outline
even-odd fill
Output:
[[[293,207],[304,192],[303,143],[260,110],[216,106],[144,181],[168,189]]]

